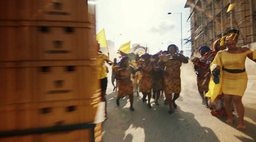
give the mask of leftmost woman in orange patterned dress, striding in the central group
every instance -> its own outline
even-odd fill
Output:
[[[134,111],[133,104],[133,91],[132,91],[132,81],[131,74],[134,73],[133,67],[129,66],[129,58],[124,57],[118,64],[119,66],[113,66],[113,71],[116,74],[116,80],[118,80],[118,97],[116,99],[116,104],[119,106],[119,100],[122,97],[129,96],[130,99],[130,110]]]

